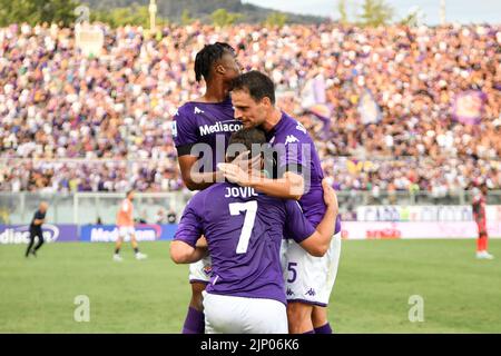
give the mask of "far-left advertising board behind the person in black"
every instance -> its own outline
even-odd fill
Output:
[[[78,241],[77,225],[43,224],[42,234],[46,243]],[[0,245],[28,244],[29,236],[29,225],[0,225]]]

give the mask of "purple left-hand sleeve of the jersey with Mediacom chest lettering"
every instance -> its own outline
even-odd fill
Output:
[[[198,142],[197,122],[188,115],[186,108],[179,108],[174,116],[173,138],[178,156],[188,155],[191,146]]]

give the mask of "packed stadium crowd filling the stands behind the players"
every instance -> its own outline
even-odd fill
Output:
[[[482,177],[501,188],[501,27],[362,29],[353,26],[168,26],[105,32],[86,57],[75,30],[0,29],[0,190],[183,189],[170,122],[202,95],[193,62],[225,41],[246,70],[267,72],[278,105],[315,138],[341,190],[446,194]],[[322,79],[327,115],[304,105]],[[454,117],[454,100],[481,92],[481,119]],[[365,121],[362,95],[380,115]],[[316,112],[316,113],[314,113]]]

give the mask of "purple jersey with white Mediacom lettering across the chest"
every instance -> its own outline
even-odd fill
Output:
[[[217,164],[225,161],[229,137],[240,128],[229,97],[223,102],[188,101],[174,115],[173,137],[178,156],[194,154],[204,160],[210,159],[199,170],[216,171]],[[191,151],[196,144],[199,145]],[[205,157],[203,151],[208,149],[212,155]]]

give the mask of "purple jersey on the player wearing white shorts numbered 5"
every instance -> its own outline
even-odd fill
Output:
[[[266,134],[266,138],[278,151],[278,171],[291,170],[305,178],[305,194],[299,204],[306,218],[316,227],[324,217],[326,206],[322,188],[324,172],[315,144],[306,128],[285,112],[282,112],[281,120]],[[341,218],[337,215],[335,233],[338,231]]]

